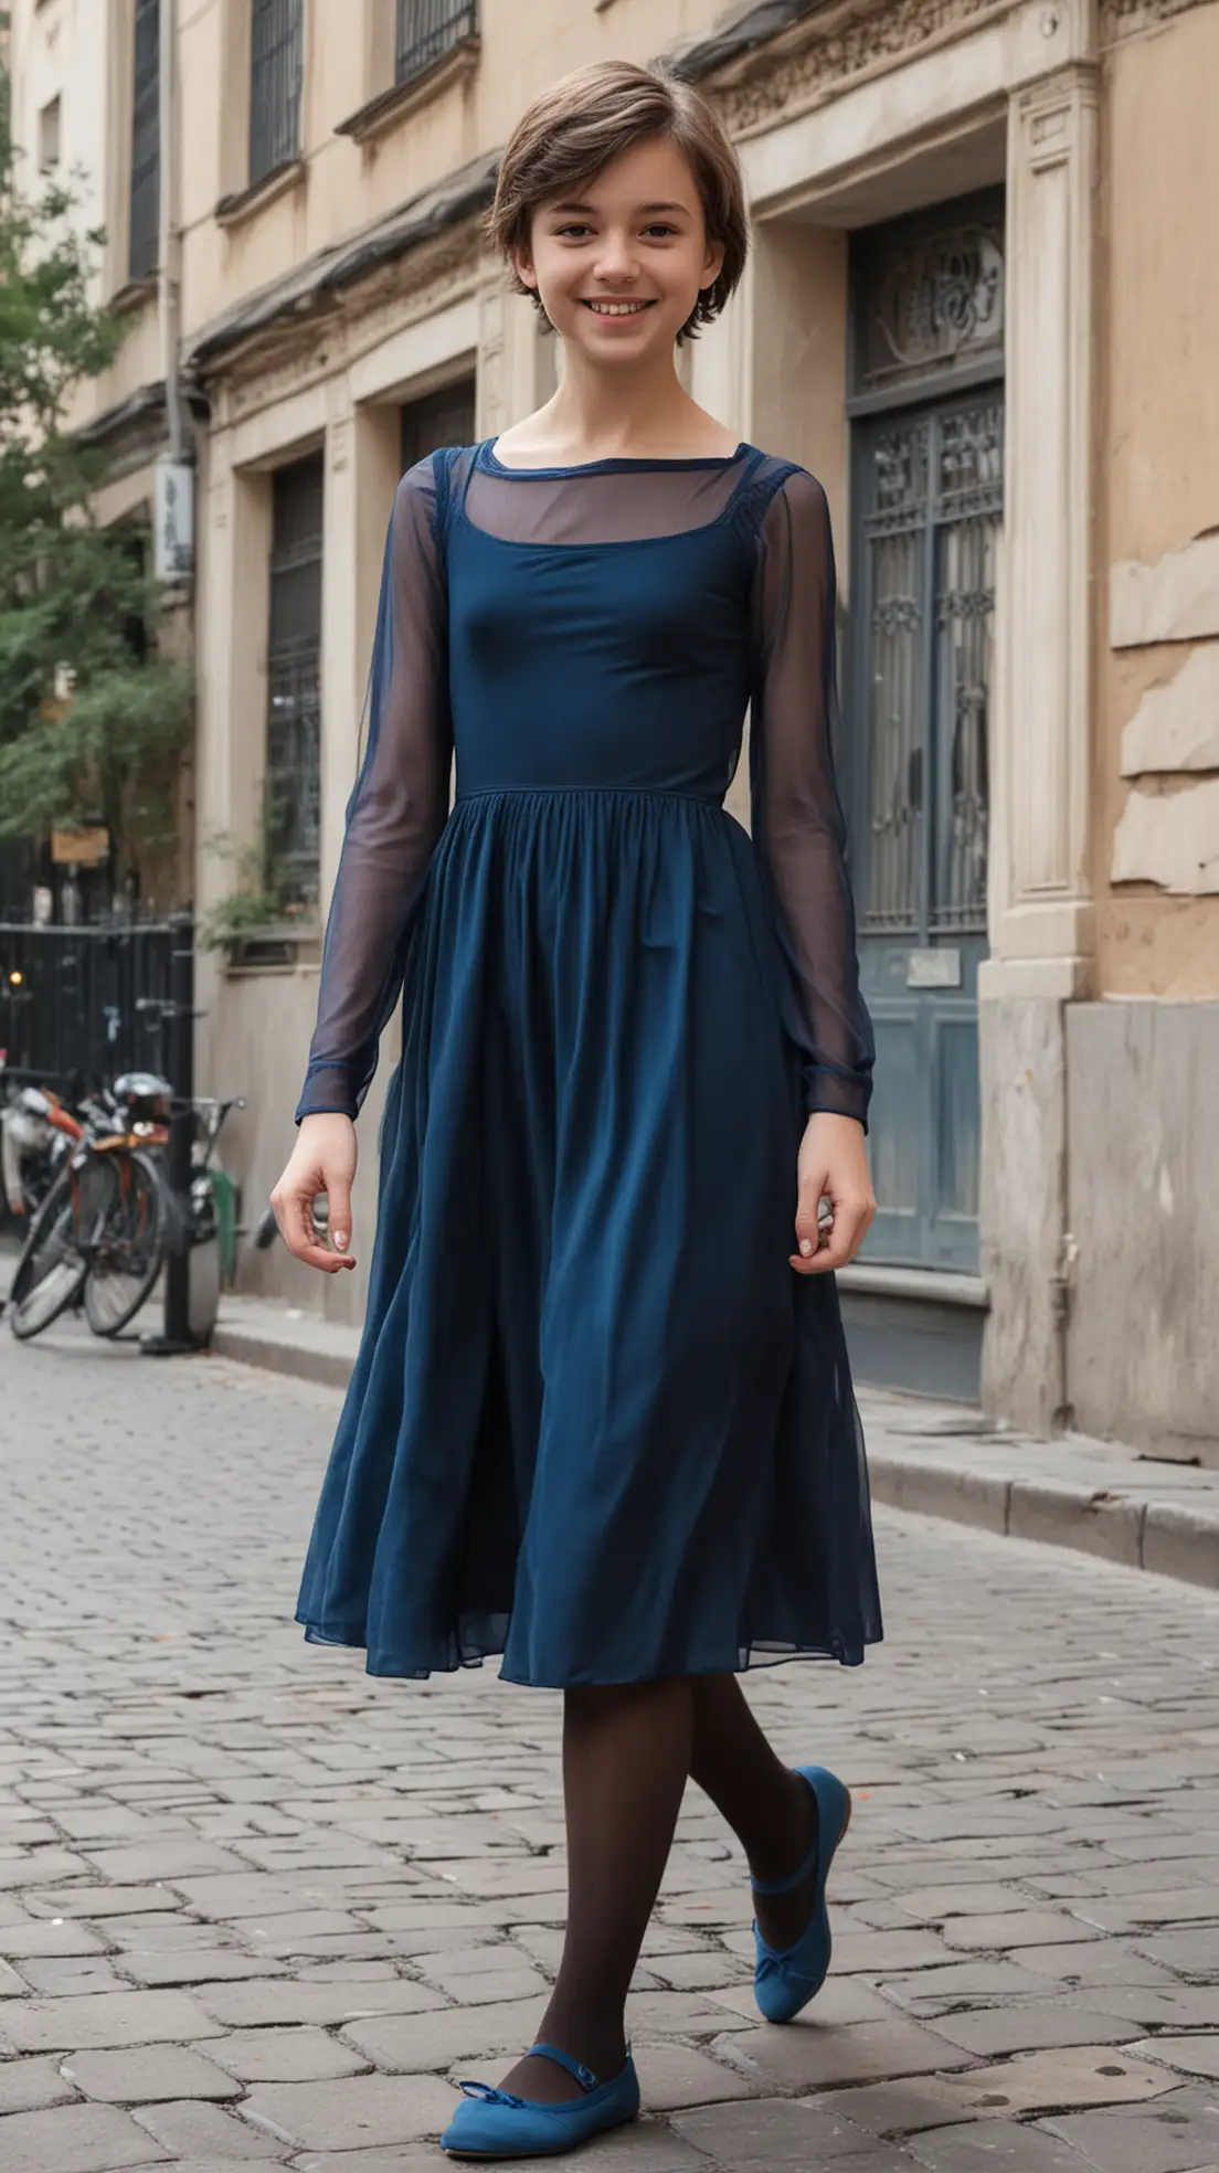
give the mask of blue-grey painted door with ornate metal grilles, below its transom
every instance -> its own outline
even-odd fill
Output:
[[[865,1260],[978,1269],[978,965],[1002,387],[854,426],[852,880],[876,1023]]]

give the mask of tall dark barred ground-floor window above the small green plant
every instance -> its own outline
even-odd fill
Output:
[[[317,904],[322,454],[272,478],[267,856],[287,904]]]

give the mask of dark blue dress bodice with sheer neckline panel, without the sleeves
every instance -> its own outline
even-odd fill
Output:
[[[604,784],[724,800],[750,702],[752,465],[682,465],[671,480],[684,491],[656,502],[667,526],[626,535],[643,511],[637,463],[541,489],[489,467],[487,450],[456,465],[458,793]]]

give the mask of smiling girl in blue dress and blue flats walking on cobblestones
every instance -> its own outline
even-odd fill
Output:
[[[276,1213],[300,1260],[352,1265],[354,1117],[404,991],[298,1619],[378,1675],[502,1654],[565,1693],[563,1964],[539,2045],[441,2138],[543,2156],[639,2110],[624,2006],[687,1778],[750,1862],[763,2012],[828,1969],[850,1795],[782,1764],[737,1673],[880,1636],[832,1282],[874,1215],[874,1052],[826,495],[674,367],[745,263],[721,124],[585,70],[515,130],[491,230],[563,378],[400,485]],[[752,839],[721,806],[745,711]]]

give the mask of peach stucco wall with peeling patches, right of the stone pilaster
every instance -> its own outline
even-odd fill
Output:
[[[1217,80],[1215,4],[1104,61],[1093,880],[1110,995],[1219,993]],[[1176,626],[1204,639],[1160,639]]]

